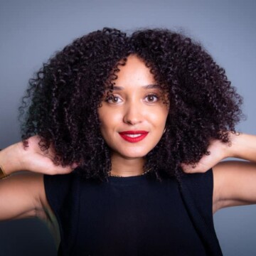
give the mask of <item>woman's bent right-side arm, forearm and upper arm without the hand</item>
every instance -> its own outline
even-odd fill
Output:
[[[213,167],[213,210],[256,203],[256,136],[233,134],[225,157],[247,161],[223,161]]]

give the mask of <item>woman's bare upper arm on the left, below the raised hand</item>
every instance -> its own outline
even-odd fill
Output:
[[[46,218],[43,175],[19,173],[0,181],[0,220]]]

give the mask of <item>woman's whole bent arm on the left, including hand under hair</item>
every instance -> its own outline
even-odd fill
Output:
[[[18,142],[0,151],[0,165],[11,175],[0,180],[0,220],[45,218],[48,203],[43,174],[67,174],[75,167],[53,164],[53,149],[44,153],[38,142],[38,137],[31,137],[26,148]]]

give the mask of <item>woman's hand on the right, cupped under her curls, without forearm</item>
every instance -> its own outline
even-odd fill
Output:
[[[208,146],[210,154],[204,155],[198,163],[193,164],[181,164],[181,168],[188,174],[192,173],[203,173],[208,171],[210,168],[218,164],[221,160],[228,157],[228,149],[230,145],[223,143],[218,139],[214,139]]]

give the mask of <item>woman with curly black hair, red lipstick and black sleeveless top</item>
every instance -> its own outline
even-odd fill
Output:
[[[256,203],[240,105],[225,71],[178,33],[78,38],[30,81],[23,142],[0,152],[0,218],[45,219],[59,255],[221,255],[213,213]],[[248,161],[220,162],[229,156]]]

